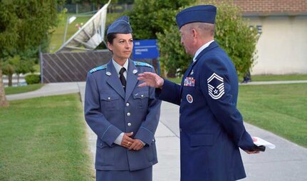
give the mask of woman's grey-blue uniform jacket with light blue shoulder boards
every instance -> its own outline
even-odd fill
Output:
[[[161,101],[155,89],[138,87],[137,74],[155,72],[147,63],[129,60],[126,92],[112,61],[93,68],[85,87],[85,120],[98,136],[95,157],[97,170],[140,170],[157,163],[155,130],[160,118]],[[128,150],[116,145],[120,133],[133,132],[144,148]]]

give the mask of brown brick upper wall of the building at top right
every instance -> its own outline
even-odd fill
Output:
[[[307,0],[224,0],[224,2],[233,2],[244,14],[307,14]]]

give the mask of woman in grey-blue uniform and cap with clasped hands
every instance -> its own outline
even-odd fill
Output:
[[[152,180],[157,163],[155,130],[161,101],[155,88],[139,87],[137,74],[155,70],[129,59],[133,40],[128,16],[117,19],[107,31],[109,63],[88,73],[85,120],[97,135],[96,180]]]

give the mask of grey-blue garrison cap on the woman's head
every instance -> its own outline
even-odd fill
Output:
[[[129,24],[129,16],[121,16],[120,18],[116,19],[108,28],[107,34],[110,33],[132,33],[132,29]]]

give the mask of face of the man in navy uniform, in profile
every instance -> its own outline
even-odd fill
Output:
[[[180,35],[181,35],[181,43],[184,46],[185,52],[189,55],[193,56],[192,51],[192,42],[193,42],[193,33],[192,30],[189,29],[189,26],[185,24],[179,29]]]

